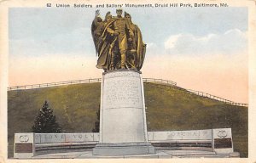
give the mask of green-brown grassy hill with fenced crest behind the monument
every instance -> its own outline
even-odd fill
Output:
[[[144,90],[148,131],[231,127],[235,151],[247,157],[247,107],[224,104],[152,82],[144,82]],[[9,91],[9,157],[13,156],[15,132],[31,132],[44,100],[49,101],[62,132],[91,132],[100,92],[100,83]]]

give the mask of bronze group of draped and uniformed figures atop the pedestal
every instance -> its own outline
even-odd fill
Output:
[[[91,25],[91,34],[98,56],[96,67],[108,70],[140,70],[146,53],[146,44],[137,25],[131,21],[131,15],[116,9],[117,16],[108,12],[105,20],[96,10]]]

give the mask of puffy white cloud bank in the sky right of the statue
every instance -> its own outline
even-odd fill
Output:
[[[166,40],[165,49],[172,54],[244,53],[247,51],[247,34],[238,29],[202,37],[177,34]]]

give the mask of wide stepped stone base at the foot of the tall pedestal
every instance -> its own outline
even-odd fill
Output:
[[[98,143],[93,155],[149,155],[154,154],[151,143]]]

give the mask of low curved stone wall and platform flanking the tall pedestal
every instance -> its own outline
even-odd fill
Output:
[[[231,128],[148,132],[148,142],[99,143],[98,132],[15,133],[14,158],[187,158],[240,155],[234,152]],[[153,152],[150,151],[153,150],[150,143],[154,146],[154,154],[148,154]],[[105,150],[104,155],[93,155],[93,148]],[[137,155],[137,151],[140,155]]]

